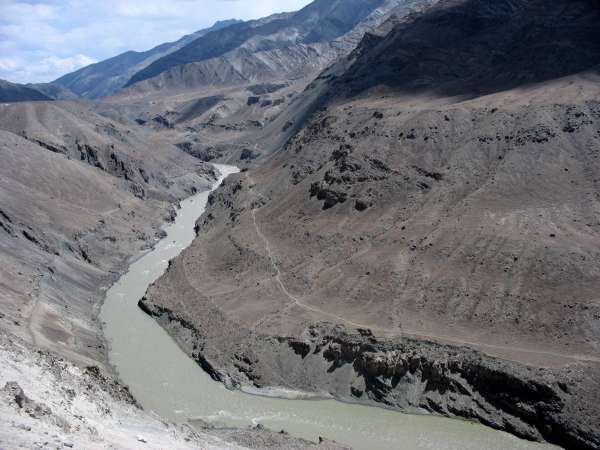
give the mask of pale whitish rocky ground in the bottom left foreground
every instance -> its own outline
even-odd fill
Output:
[[[142,411],[125,386],[97,366],[81,368],[0,334],[0,447],[75,449],[319,449],[251,430],[178,426]]]

